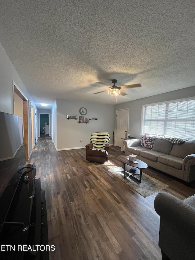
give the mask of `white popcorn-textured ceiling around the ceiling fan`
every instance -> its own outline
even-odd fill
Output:
[[[195,85],[194,0],[1,0],[0,42],[35,103],[118,104]],[[116,103],[117,104],[117,103]]]

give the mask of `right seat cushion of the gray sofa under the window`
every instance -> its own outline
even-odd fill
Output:
[[[164,155],[158,157],[158,162],[173,167],[175,169],[181,170],[183,164],[183,158],[173,156],[173,155]]]

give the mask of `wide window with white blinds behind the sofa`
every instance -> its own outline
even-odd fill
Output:
[[[195,140],[195,99],[143,105],[141,132]]]

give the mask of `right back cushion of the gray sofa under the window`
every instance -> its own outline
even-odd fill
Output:
[[[170,155],[184,158],[187,155],[195,153],[195,142],[186,141],[183,144],[173,144]]]

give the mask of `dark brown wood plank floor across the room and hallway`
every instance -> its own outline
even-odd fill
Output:
[[[29,160],[46,192],[50,260],[157,260],[157,193],[144,198],[108,174],[121,166],[121,151],[109,149],[105,164],[88,162],[85,149],[56,151],[39,138]],[[195,190],[154,169],[144,172],[169,185],[163,191],[184,199]]]

